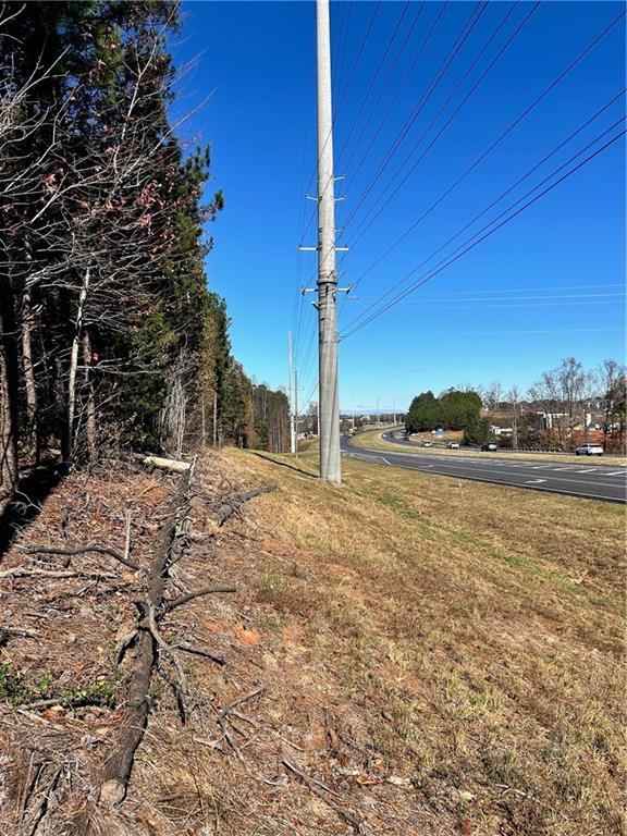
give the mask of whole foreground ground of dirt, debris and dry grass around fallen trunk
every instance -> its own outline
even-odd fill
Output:
[[[196,466],[128,795],[98,800],[128,712],[144,574],[180,477],[57,485],[0,565],[0,832],[16,836],[624,833],[623,509],[352,462]],[[222,528],[224,497],[260,485]],[[39,561],[39,562],[38,562]],[[74,576],[10,577],[15,567]],[[2,574],[3,573],[3,574]],[[197,655],[190,651],[208,655]]]

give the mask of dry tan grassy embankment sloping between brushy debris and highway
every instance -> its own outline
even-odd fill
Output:
[[[273,546],[251,582],[306,651],[294,676],[408,776],[419,817],[624,832],[622,507],[355,459],[332,488],[298,471],[315,452],[225,455],[279,487],[258,505]]]

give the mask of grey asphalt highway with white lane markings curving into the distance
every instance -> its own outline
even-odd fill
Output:
[[[399,445],[411,444],[411,442],[393,438],[386,440]],[[437,455],[419,452],[405,453],[358,447],[346,437],[342,438],[341,444],[343,455],[385,467],[402,467],[456,479],[563,493],[587,500],[627,502],[627,469],[616,465],[604,465],[601,458],[585,458],[579,465],[560,460],[521,462],[501,457],[489,459],[469,456],[464,451],[450,451]],[[411,446],[415,448],[415,445],[411,444]]]

